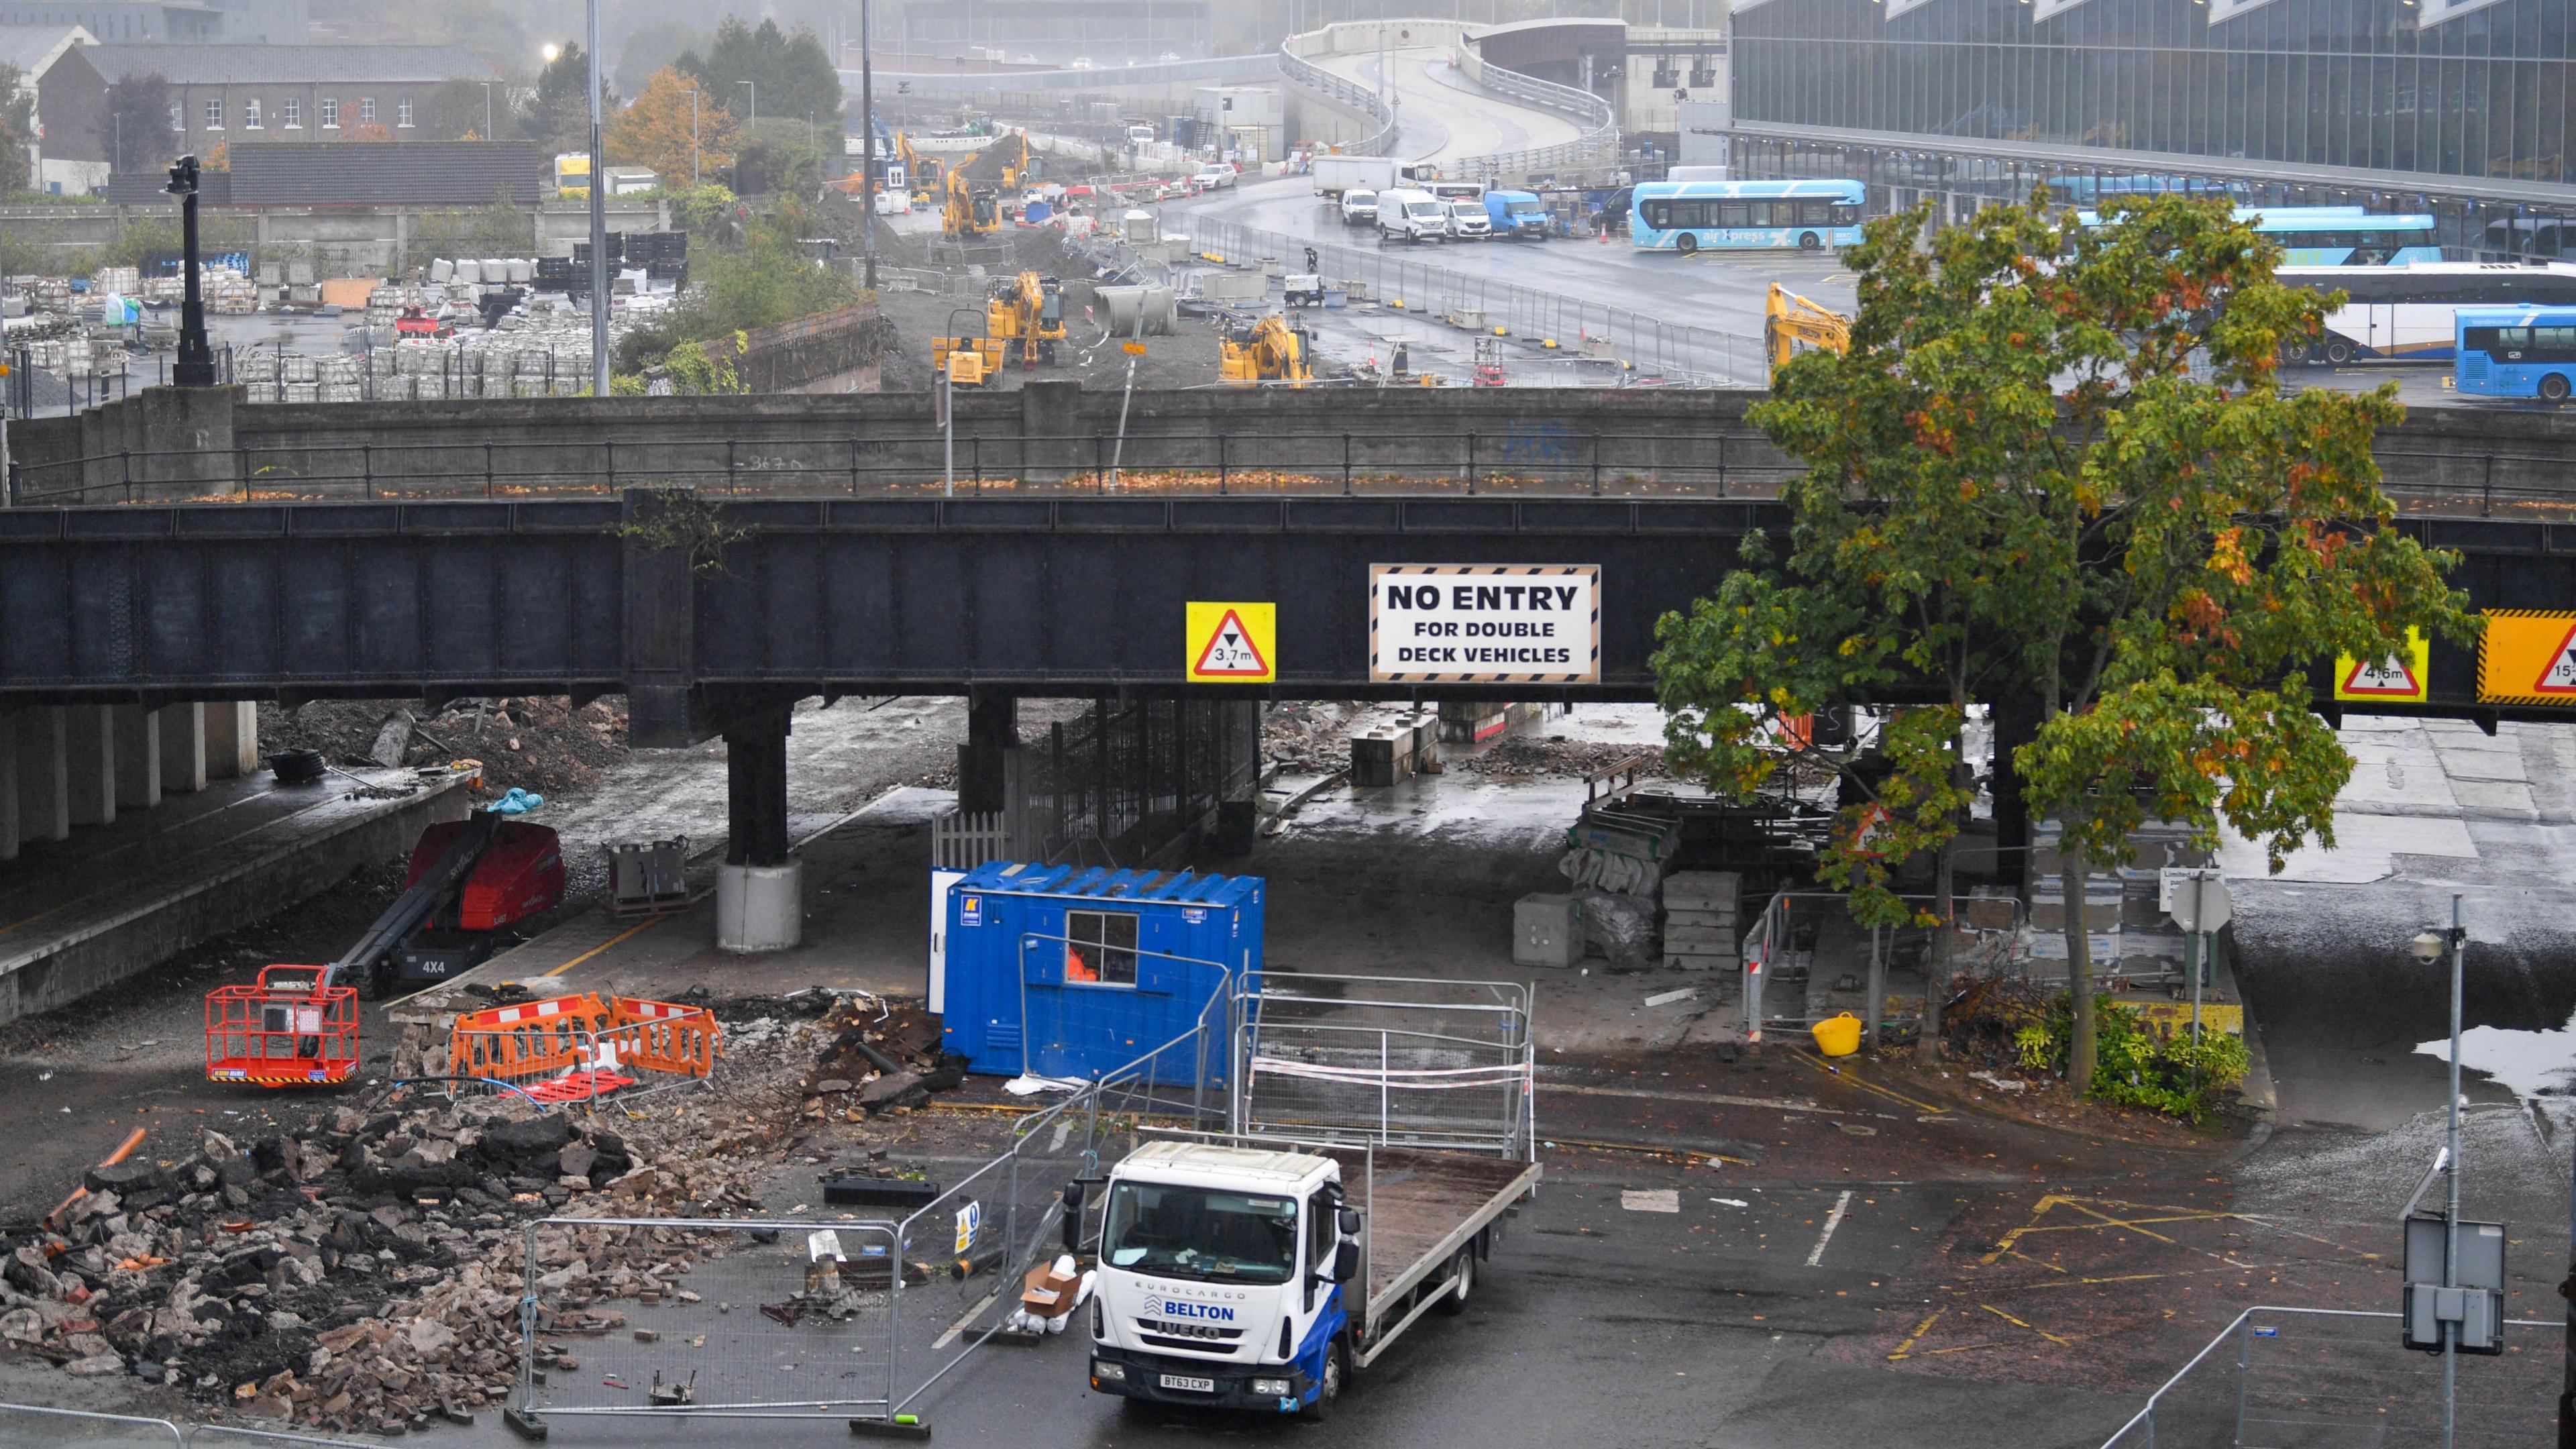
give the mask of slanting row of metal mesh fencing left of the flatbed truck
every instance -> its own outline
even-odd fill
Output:
[[[927,1271],[896,1294],[889,1413],[917,1413],[930,1387],[1007,1333],[1028,1269],[1064,1250],[1066,1183],[1121,1160],[1139,1127],[1218,1124],[1224,1096],[1188,1083],[1206,1052],[1224,1055],[1231,1003],[1218,993],[1182,1036],[1020,1119],[1007,1152],[904,1220],[907,1258]]]

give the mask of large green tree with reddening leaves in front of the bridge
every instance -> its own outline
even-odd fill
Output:
[[[2148,804],[2205,846],[2221,822],[2259,835],[2275,861],[2331,843],[2352,761],[2308,709],[2311,665],[2473,629],[2442,585],[2452,559],[2380,526],[2391,389],[2280,392],[2280,343],[2316,335],[2329,302],[2280,286],[2280,253],[2226,204],[2154,199],[2099,229],[2043,196],[1929,237],[1927,219],[1865,229],[1844,258],[1852,348],[1790,361],[1754,410],[1806,462],[1783,495],[1790,552],[1664,621],[1677,758],[1747,794],[1780,768],[1767,719],[1929,701],[1886,730],[1826,851],[1862,918],[1891,913],[1880,861],[1932,848],[1947,920],[1955,722],[1981,699],[2040,701],[2014,768],[2032,815],[2063,822],[2069,902],[2089,864],[2128,859]],[[2087,1091],[2079,908],[2069,959]],[[1927,1052],[1945,985],[1937,957]]]

